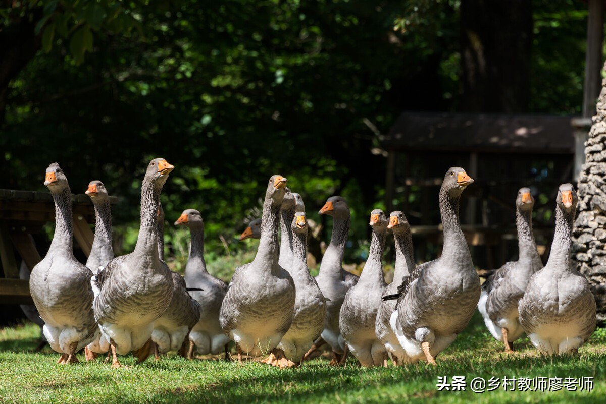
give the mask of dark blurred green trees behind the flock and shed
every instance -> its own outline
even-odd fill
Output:
[[[136,231],[144,168],[165,157],[167,220],[201,210],[217,251],[272,174],[312,217],[344,195],[365,239],[384,205],[381,134],[404,109],[581,110],[574,0],[2,4],[0,187],[44,191],[57,161],[74,193],[104,181],[114,223]]]

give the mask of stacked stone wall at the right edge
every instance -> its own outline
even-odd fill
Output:
[[[606,69],[606,65],[605,65]],[[598,321],[606,322],[606,79],[596,116],[585,143],[585,164],[578,183],[579,215],[574,222],[573,264],[587,276],[598,304]]]

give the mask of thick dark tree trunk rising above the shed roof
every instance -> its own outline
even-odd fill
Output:
[[[527,112],[532,2],[462,0],[462,106],[466,111]]]

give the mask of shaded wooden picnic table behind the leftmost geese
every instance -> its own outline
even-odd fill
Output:
[[[110,197],[110,203],[118,199]],[[76,243],[86,256],[90,255],[94,233],[95,208],[88,195],[72,195],[73,230]],[[49,221],[55,220],[55,203],[50,192],[12,191],[0,189],[0,304],[33,304],[29,281],[19,279],[15,252],[32,268],[41,261],[32,234],[39,233]]]

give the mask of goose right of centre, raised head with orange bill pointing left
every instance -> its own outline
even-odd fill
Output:
[[[339,330],[339,312],[347,291],[356,283],[358,276],[343,269],[343,255],[349,232],[350,212],[345,199],[339,196],[330,197],[319,212],[333,217],[333,232],[330,244],[322,256],[320,271],[316,282],[326,299],[326,317],[321,337],[316,340],[304,356],[304,360],[327,342],[333,350],[334,357],[330,365],[344,362],[348,347]]]

